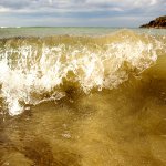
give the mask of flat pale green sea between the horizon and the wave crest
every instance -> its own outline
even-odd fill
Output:
[[[52,35],[106,35],[115,31],[125,30],[125,28],[42,28],[42,27],[30,27],[30,28],[0,28],[0,38],[11,38],[11,37],[52,37]],[[165,29],[139,29],[131,28],[134,32],[147,33],[147,34],[158,34],[165,35]]]

